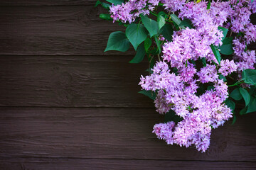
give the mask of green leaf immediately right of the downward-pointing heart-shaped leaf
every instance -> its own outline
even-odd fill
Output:
[[[141,15],[141,18],[142,18],[142,23],[146,27],[146,30],[149,31],[150,37],[156,35],[159,30],[158,23],[156,23],[156,21],[148,18],[147,16]]]

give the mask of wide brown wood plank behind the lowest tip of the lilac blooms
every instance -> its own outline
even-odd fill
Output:
[[[0,108],[0,157],[256,162],[255,114],[213,130],[206,153],[166,145],[153,108]]]

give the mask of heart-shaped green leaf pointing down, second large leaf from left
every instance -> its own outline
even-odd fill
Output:
[[[147,31],[146,28],[141,24],[132,23],[125,31],[128,40],[132,43],[135,50],[137,47],[146,40]]]

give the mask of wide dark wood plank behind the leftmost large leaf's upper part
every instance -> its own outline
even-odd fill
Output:
[[[124,30],[103,21],[101,7],[0,7],[1,55],[134,55],[104,52],[110,33]]]

